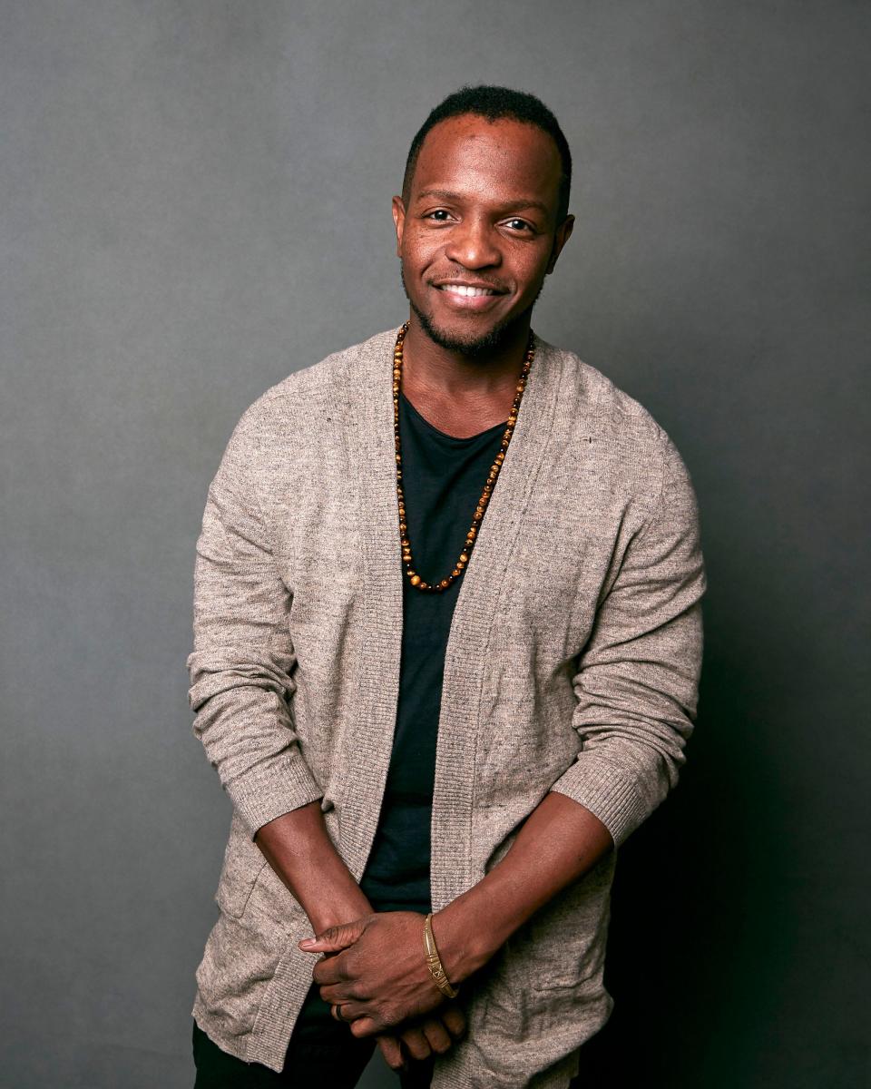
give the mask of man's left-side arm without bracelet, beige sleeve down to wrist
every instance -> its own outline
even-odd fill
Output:
[[[209,486],[197,541],[187,660],[194,733],[312,926],[330,926],[371,908],[327,832],[322,792],[297,742],[290,595],[258,499],[258,461],[249,408]]]

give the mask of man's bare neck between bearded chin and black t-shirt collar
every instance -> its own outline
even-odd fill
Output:
[[[403,345],[403,383],[445,400],[499,395],[514,384],[526,355],[529,320],[511,329],[504,341],[483,354],[466,355],[437,344],[412,313]]]

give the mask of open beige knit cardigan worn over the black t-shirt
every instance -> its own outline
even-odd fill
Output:
[[[253,841],[321,799],[354,877],[378,822],[396,714],[403,573],[393,450],[396,330],[299,370],[242,416],[197,543],[194,732],[233,803],[193,1008],[274,1070],[311,983],[298,903]],[[555,790],[617,847],[677,781],[701,664],[692,487],[665,432],[537,340],[517,426],[459,587],[432,799],[432,906],[510,847]],[[433,1089],[565,1087],[608,1019],[616,851],[463,988],[467,1039]]]

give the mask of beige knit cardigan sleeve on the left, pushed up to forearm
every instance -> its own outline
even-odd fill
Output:
[[[187,659],[194,734],[252,836],[322,796],[294,727],[290,592],[257,495],[255,409],[243,414],[209,486]]]

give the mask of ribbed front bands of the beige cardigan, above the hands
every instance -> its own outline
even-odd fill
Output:
[[[398,329],[379,333],[348,355],[349,451],[357,486],[363,549],[360,659],[351,751],[359,754],[344,786],[342,848],[359,880],[387,782],[400,690],[403,567],[393,443],[393,346]],[[444,663],[432,799],[432,908],[478,880],[471,872],[471,813],[483,664],[494,604],[524,512],[541,468],[556,406],[559,353],[536,338],[511,445],[463,575]],[[351,481],[349,481],[351,482]]]

